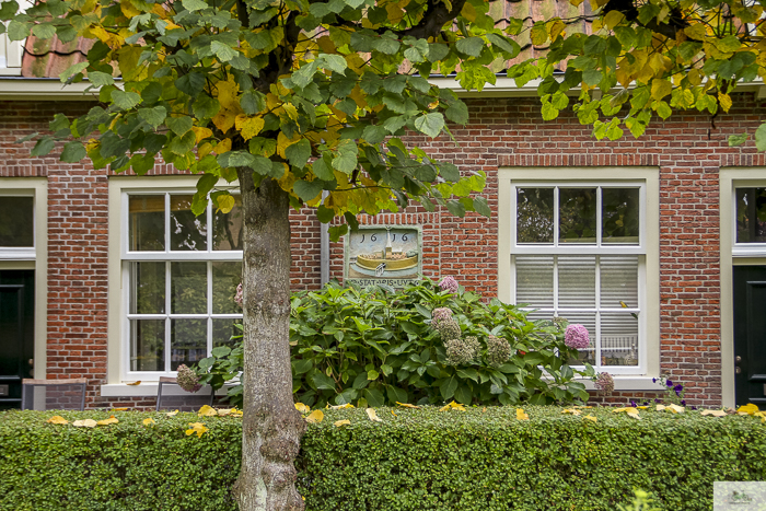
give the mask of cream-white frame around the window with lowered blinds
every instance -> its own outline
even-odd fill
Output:
[[[634,254],[639,258],[638,293],[639,365],[604,367],[615,374],[618,391],[657,390],[652,378],[660,373],[660,267],[659,267],[659,169],[657,167],[503,167],[498,171],[498,298],[515,303],[514,255],[619,255]],[[566,243],[556,245],[519,244],[517,242],[517,187],[638,187],[640,232],[638,245],[585,245]],[[599,200],[601,200],[599,198]],[[600,204],[597,205],[600,208]],[[554,227],[557,241],[558,225]],[[601,234],[601,225],[597,225]],[[599,236],[600,239],[600,236]],[[597,278],[597,277],[596,277]],[[596,288],[597,281],[596,281]],[[596,304],[600,305],[600,304]],[[588,307],[589,312],[596,307]],[[614,312],[630,312],[615,309]],[[596,361],[600,361],[596,359]]]

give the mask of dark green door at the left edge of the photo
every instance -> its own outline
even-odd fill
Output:
[[[32,376],[35,272],[0,270],[0,409],[21,408],[21,380]]]

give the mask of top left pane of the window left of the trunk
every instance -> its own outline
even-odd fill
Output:
[[[165,196],[131,195],[128,200],[130,251],[165,249]]]

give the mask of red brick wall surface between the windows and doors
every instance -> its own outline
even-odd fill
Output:
[[[499,166],[660,167],[661,370],[686,384],[689,403],[715,406],[720,384],[720,271],[718,170],[766,165],[752,143],[729,148],[729,135],[753,132],[766,111],[752,95],[719,115],[715,128],[704,115],[682,114],[657,120],[640,139],[597,141],[572,114],[539,120],[535,98],[468,101],[468,127],[453,127],[460,146],[448,137],[410,137],[429,153],[463,170],[487,173],[495,217],[457,219],[443,210],[408,208],[397,214],[362,219],[363,223],[417,224],[423,232],[423,272],[452,275],[467,289],[497,295],[497,169]],[[97,397],[106,378],[107,173],[71,165],[56,158],[30,159],[11,142],[43,131],[56,112],[79,115],[79,103],[0,102],[0,176],[48,177],[48,378],[88,376],[92,406],[151,406],[153,398]],[[156,169],[153,174],[174,173]],[[320,284],[320,225],[303,210],[292,212],[294,289]],[[343,243],[330,248],[330,277],[343,278]],[[42,375],[38,375],[42,376]],[[608,400],[651,395],[617,393]]]

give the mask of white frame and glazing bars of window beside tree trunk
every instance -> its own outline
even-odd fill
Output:
[[[102,395],[155,395],[160,376],[175,376],[177,371],[131,371],[130,370],[130,320],[139,318],[165,318],[165,353],[167,367],[170,353],[167,339],[170,330],[167,322],[173,318],[240,318],[242,314],[211,314],[211,303],[208,300],[208,311],[200,314],[170,314],[170,309],[164,314],[129,314],[130,304],[130,266],[136,262],[206,262],[208,263],[207,292],[208,298],[212,292],[212,279],[210,278],[211,264],[214,262],[240,262],[242,251],[213,251],[212,229],[208,228],[207,251],[171,251],[165,243],[164,251],[138,252],[129,251],[129,197],[130,195],[165,195],[165,214],[170,211],[170,195],[190,195],[196,191],[198,176],[167,176],[167,177],[135,177],[114,176],[109,178],[109,231],[118,232],[118,235],[109,236],[109,340],[108,340],[108,371],[107,384],[102,386]],[[237,183],[219,183],[220,188],[239,189]],[[207,214],[211,218],[212,205],[208,204]],[[165,239],[170,239],[167,220],[165,221]],[[165,271],[170,271],[170,264],[165,265]],[[165,275],[165,300],[170,300],[167,288],[170,279]],[[208,352],[211,345],[211,324],[208,322]],[[149,385],[141,388],[125,386],[126,382],[141,381]]]

